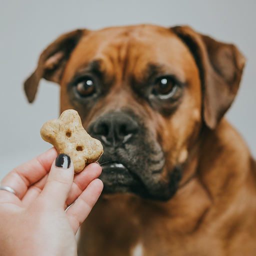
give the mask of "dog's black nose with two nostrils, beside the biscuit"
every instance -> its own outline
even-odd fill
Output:
[[[100,116],[91,128],[105,145],[119,146],[137,134],[138,123],[127,113],[113,112]]]

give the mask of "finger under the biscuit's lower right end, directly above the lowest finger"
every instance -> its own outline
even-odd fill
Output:
[[[101,173],[102,168],[97,163],[90,163],[83,171],[74,175],[73,184],[71,190],[66,199],[65,207],[72,204],[81,192],[86,188],[86,186],[95,178],[97,178]]]

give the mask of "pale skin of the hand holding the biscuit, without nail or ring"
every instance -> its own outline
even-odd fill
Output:
[[[0,256],[77,255],[75,233],[102,191],[101,167],[74,175],[72,162],[55,166],[56,156],[51,148],[1,181],[16,195],[0,190]]]

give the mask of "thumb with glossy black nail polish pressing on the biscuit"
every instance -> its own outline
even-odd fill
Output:
[[[74,178],[74,166],[68,154],[59,154],[53,161],[41,196],[55,206],[64,207]]]

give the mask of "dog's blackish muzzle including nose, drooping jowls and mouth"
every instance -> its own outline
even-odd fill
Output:
[[[87,131],[103,145],[99,159],[103,193],[128,192],[160,200],[173,195],[181,172],[174,168],[170,176],[162,178],[162,149],[135,116],[126,112],[106,113],[91,122]]]

